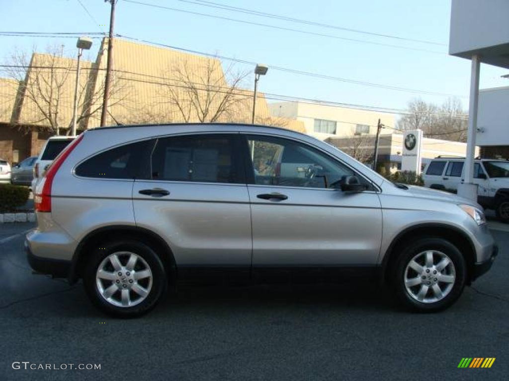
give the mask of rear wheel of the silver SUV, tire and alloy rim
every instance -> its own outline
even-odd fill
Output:
[[[115,240],[96,247],[86,264],[83,283],[92,303],[116,317],[149,312],[167,286],[157,254],[134,240]]]

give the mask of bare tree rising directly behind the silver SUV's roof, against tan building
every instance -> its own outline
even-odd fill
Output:
[[[173,106],[175,120],[186,123],[232,120],[244,114],[249,94],[240,89],[247,73],[224,72],[218,59],[207,58],[201,65],[189,60],[177,63],[165,73],[159,91],[160,102]]]

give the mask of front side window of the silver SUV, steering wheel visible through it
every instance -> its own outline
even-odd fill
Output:
[[[279,138],[248,138],[254,183],[325,188],[355,173],[307,145]]]

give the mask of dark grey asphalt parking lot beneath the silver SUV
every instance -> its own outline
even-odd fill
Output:
[[[373,285],[188,289],[141,319],[96,311],[82,285],[32,275],[23,232],[0,226],[1,380],[507,379],[509,232],[450,309],[408,313]],[[508,229],[509,230],[509,229]],[[490,369],[458,369],[495,357]],[[100,370],[13,369],[100,364]]]

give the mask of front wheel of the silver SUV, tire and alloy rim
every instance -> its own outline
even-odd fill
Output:
[[[423,237],[401,252],[395,263],[393,285],[405,307],[435,312],[460,297],[466,274],[465,258],[455,245],[443,238]]]

